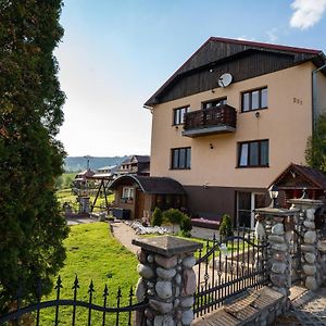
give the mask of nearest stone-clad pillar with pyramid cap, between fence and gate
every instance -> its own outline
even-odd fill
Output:
[[[133,243],[141,248],[136,294],[139,302],[149,300],[147,325],[190,325],[196,291],[193,252],[202,244],[171,236],[134,239]]]

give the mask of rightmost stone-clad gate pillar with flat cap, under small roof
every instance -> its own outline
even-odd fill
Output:
[[[317,234],[315,229],[315,210],[323,204],[319,200],[291,199],[289,203],[300,210],[302,222],[301,262],[302,278],[305,287],[316,290],[322,283],[317,268]]]

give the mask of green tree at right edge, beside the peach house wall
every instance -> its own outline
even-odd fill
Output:
[[[326,114],[319,115],[313,135],[308,138],[305,161],[326,173]]]

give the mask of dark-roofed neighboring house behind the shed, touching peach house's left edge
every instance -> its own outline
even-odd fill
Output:
[[[116,173],[118,176],[126,174],[149,175],[150,160],[149,155],[133,155],[121,163]]]

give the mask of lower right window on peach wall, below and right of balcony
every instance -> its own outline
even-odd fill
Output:
[[[268,166],[268,140],[246,141],[239,143],[238,167]]]

